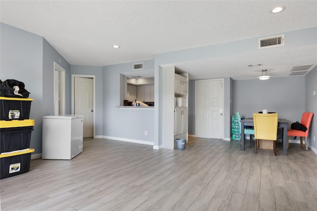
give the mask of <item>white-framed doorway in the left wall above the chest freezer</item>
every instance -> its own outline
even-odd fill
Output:
[[[54,115],[65,114],[65,69],[54,61]]]

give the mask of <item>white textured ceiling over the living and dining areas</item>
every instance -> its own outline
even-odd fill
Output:
[[[285,6],[285,11],[271,14],[277,5]],[[317,1],[1,0],[0,18],[3,23],[43,36],[70,64],[106,66],[153,59],[157,53],[316,27]],[[246,68],[246,64],[259,61],[263,67]],[[240,80],[257,78],[263,68],[272,77],[285,77],[292,66],[304,64],[317,64],[316,45],[175,65],[189,72],[191,79]]]

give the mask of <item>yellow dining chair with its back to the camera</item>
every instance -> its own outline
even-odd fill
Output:
[[[253,113],[255,153],[257,153],[258,141],[260,139],[273,141],[274,155],[276,156],[277,139],[277,113]]]

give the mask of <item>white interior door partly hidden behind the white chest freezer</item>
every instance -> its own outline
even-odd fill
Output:
[[[84,115],[83,137],[94,136],[94,79],[74,78],[74,114]]]

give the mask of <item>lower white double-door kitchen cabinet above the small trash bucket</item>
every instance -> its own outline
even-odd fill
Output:
[[[188,131],[188,108],[174,108],[174,136],[187,133]]]

